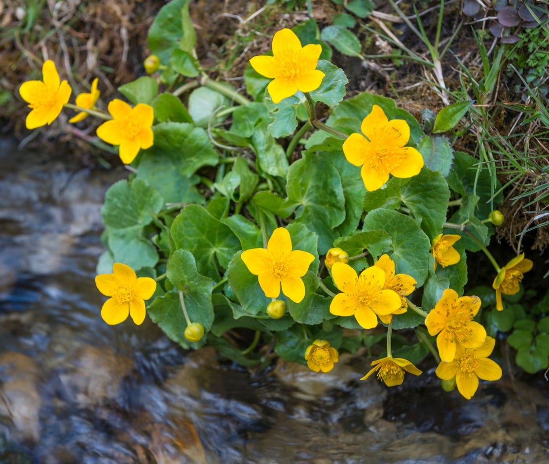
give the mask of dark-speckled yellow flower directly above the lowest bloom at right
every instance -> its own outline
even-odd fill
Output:
[[[484,343],[486,330],[473,321],[479,309],[479,297],[459,298],[456,290],[444,290],[442,298],[425,318],[429,334],[438,334],[436,346],[442,361],[452,361],[456,356],[457,346],[478,348]]]

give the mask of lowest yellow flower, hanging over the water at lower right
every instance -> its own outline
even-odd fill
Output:
[[[455,377],[458,392],[470,400],[477,392],[479,378],[490,381],[501,378],[501,367],[488,359],[495,343],[494,338],[486,337],[484,344],[478,348],[457,346],[456,359],[451,362],[442,361],[436,368],[436,375],[442,380]]]

